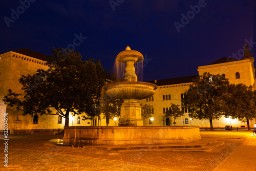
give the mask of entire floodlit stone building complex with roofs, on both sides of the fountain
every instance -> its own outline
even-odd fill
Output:
[[[57,115],[21,115],[20,111],[10,108],[2,101],[4,95],[8,93],[8,89],[12,89],[15,93],[22,93],[22,84],[18,82],[22,75],[33,75],[37,69],[48,69],[46,60],[48,56],[26,49],[18,49],[0,54],[0,131],[4,130],[4,113],[8,113],[8,130],[16,130],[17,133],[23,132],[49,132],[54,129],[63,129],[65,119]],[[222,57],[221,59],[210,63],[206,66],[198,67],[199,74],[210,72],[212,74],[224,74],[230,83],[244,83],[246,86],[254,86],[255,69],[253,66],[254,58],[251,56],[247,45],[245,46],[244,57],[241,60]],[[181,105],[183,93],[192,84],[196,76],[187,76],[180,78],[170,78],[162,80],[149,81],[158,86],[153,97],[140,100],[139,103],[151,104],[154,106],[152,111],[154,120],[149,118],[145,120],[145,125],[174,125],[172,117],[164,117],[164,113],[170,107],[170,103]],[[213,120],[214,127],[224,127],[225,125],[234,127],[246,126],[246,123],[237,119],[222,117],[219,120]],[[255,120],[250,121],[253,126]],[[103,116],[95,117],[93,120],[82,120],[81,116],[70,115],[70,126],[89,126],[101,125],[105,126]],[[109,125],[118,125],[118,120],[110,120]],[[201,127],[209,127],[209,120],[190,120],[187,111],[185,116],[176,120],[176,125],[199,125]]]

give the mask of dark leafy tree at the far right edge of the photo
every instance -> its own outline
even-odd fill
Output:
[[[256,117],[255,102],[253,97],[256,95],[253,92],[252,86],[247,87],[245,84],[230,84],[228,87],[228,96],[225,96],[227,108],[226,113],[231,118],[237,118],[242,122],[247,122],[248,130],[250,130],[249,120]],[[253,95],[254,94],[254,95]]]

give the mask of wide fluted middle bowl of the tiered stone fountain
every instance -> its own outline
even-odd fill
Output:
[[[116,99],[145,99],[155,94],[157,86],[148,82],[115,82],[104,86],[105,94]]]

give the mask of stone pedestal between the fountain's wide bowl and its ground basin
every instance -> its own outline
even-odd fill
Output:
[[[141,106],[138,99],[124,99],[120,111],[120,126],[142,126]]]

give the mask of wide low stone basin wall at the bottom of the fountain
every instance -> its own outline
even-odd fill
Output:
[[[63,144],[173,144],[201,139],[199,126],[72,126]]]

